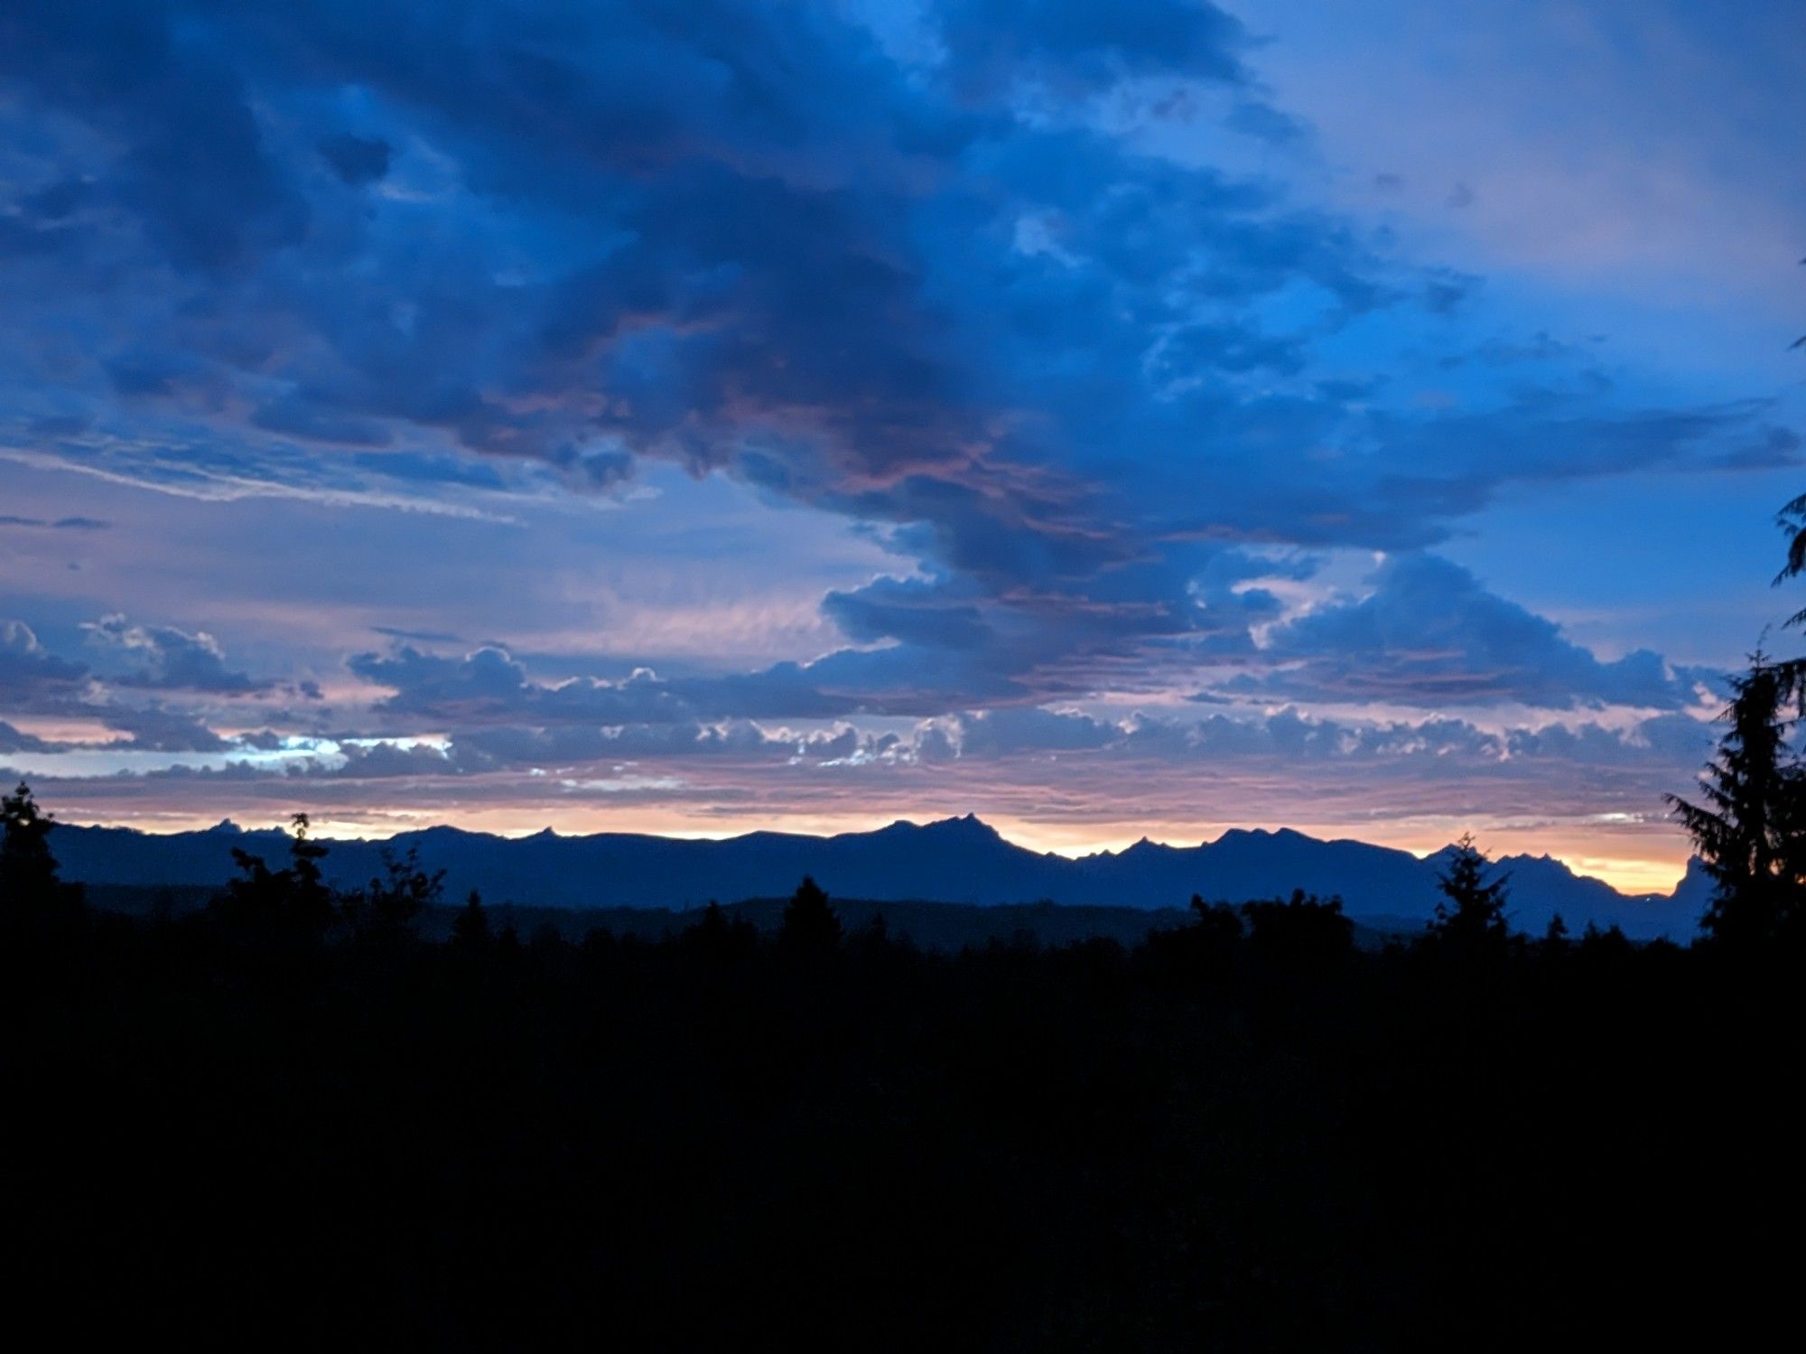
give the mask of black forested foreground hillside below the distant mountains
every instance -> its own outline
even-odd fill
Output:
[[[1360,953],[448,944],[9,917],[14,1322],[235,1345],[1743,1343],[1799,1289],[1793,969],[1615,937]]]

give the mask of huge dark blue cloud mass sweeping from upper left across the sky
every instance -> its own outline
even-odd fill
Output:
[[[1297,139],[1215,5],[930,0],[919,25],[903,51],[833,4],[7,5],[0,343],[27,394],[0,426],[83,464],[150,444],[208,486],[504,493],[488,468],[531,466],[618,495],[665,460],[919,563],[829,594],[852,648],[737,677],[354,659],[385,715],[484,720],[1084,693],[1149,650],[1252,655],[1280,603],[1250,545],[1420,551],[1504,486],[1797,453],[1759,406],[1524,386],[1515,359],[1465,365],[1447,410],[1394,395],[1387,359],[1472,278],[1096,112],[1125,81],[1210,87],[1232,128]],[[1380,339],[1360,370],[1351,332]],[[1299,690],[1347,697],[1302,646],[1371,641],[1282,639]],[[125,681],[262,686],[195,635],[143,654]],[[1513,663],[1557,664],[1541,686],[1503,659],[1470,643],[1418,690],[1660,684],[1652,657],[1597,675],[1526,643]]]

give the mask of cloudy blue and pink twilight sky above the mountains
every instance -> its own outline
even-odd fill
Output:
[[[1665,890],[1806,605],[1801,20],[11,0],[0,773]]]

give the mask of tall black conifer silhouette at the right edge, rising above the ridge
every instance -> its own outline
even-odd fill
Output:
[[[1699,778],[1701,802],[1665,796],[1718,885],[1699,924],[1725,944],[1770,941],[1802,910],[1806,778],[1788,751],[1795,666],[1750,655],[1750,670],[1732,679],[1721,715],[1728,728]]]

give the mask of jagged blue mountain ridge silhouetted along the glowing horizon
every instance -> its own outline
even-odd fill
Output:
[[[278,829],[233,823],[202,832],[152,834],[63,823],[51,838],[67,879],[92,885],[219,886],[235,874],[231,849],[276,863],[287,850]],[[726,839],[661,838],[632,832],[498,838],[455,827],[403,832],[390,841],[325,839],[327,877],[358,885],[381,868],[381,849],[415,847],[423,865],[446,870],[448,897],[470,888],[495,903],[549,908],[699,906],[784,895],[804,874],[829,894],[860,899],[939,903],[1038,903],[1183,908],[1192,894],[1241,903],[1284,897],[1293,888],[1342,897],[1349,915],[1425,923],[1439,894],[1441,856],[1365,841],[1322,841],[1280,829],[1232,829],[1197,847],[1138,841],[1123,850],[1066,858],[1004,839],[979,818],[898,821],[872,832],[831,838],[749,832]],[[1548,856],[1497,861],[1510,876],[1517,930],[1541,932],[1553,913],[1575,932],[1587,923],[1622,926],[1627,935],[1687,939],[1710,895],[1692,861],[1672,895],[1625,895],[1600,879],[1573,874]]]

